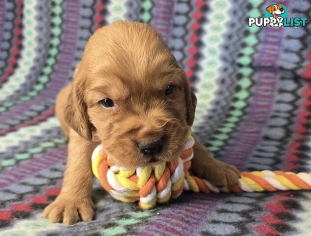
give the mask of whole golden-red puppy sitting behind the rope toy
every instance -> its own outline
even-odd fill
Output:
[[[73,82],[57,97],[68,160],[61,193],[43,216],[66,225],[92,220],[93,149],[102,143],[125,167],[170,161],[184,146],[195,105],[185,72],[155,29],[118,21],[96,30]],[[191,170],[218,186],[237,184],[240,177],[198,140]]]

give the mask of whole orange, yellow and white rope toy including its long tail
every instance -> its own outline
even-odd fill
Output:
[[[311,190],[311,174],[268,170],[242,172],[238,185],[216,187],[189,172],[193,145],[194,139],[189,131],[185,148],[178,158],[137,169],[114,165],[99,145],[92,154],[93,173],[112,197],[126,203],[139,201],[142,209],[156,207],[156,203],[167,203],[170,198],[180,196],[183,190],[203,193]]]

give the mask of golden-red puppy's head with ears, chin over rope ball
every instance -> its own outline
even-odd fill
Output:
[[[160,34],[119,21],[88,41],[65,118],[85,139],[99,139],[117,165],[137,167],[180,153],[195,104]]]

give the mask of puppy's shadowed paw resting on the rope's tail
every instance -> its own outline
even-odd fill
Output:
[[[198,177],[210,181],[218,187],[230,187],[239,183],[240,172],[233,165],[216,160],[209,166],[202,166],[196,173]]]

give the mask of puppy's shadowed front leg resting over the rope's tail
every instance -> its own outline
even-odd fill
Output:
[[[194,140],[194,156],[191,160],[193,174],[219,187],[237,184],[240,172],[234,166],[216,160],[196,138]]]

